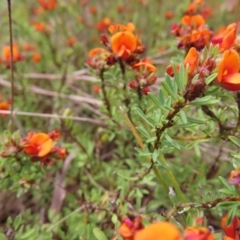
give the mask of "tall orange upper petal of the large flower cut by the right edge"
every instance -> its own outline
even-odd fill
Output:
[[[221,82],[225,75],[238,73],[239,69],[240,57],[238,53],[233,49],[226,50],[218,67],[218,81]]]

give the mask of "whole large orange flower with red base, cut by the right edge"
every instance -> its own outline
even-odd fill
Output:
[[[235,50],[226,50],[218,67],[218,82],[229,91],[240,90],[240,57]]]

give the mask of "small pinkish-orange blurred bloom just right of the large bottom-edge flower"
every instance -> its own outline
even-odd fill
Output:
[[[184,231],[185,240],[214,240],[211,231],[205,227],[188,227]]]

